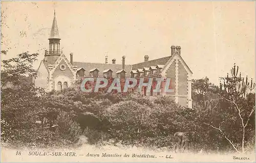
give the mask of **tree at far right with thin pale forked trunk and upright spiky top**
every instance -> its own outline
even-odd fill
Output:
[[[231,76],[221,77],[218,95],[220,110],[215,119],[204,124],[218,130],[237,152],[245,153],[246,134],[254,130],[253,113],[255,111],[255,93],[251,93],[255,84],[238,76],[239,67],[234,65]],[[250,92],[250,93],[249,93]],[[207,121],[207,118],[204,119]],[[251,122],[251,124],[250,124]],[[218,126],[218,127],[217,127]],[[247,138],[248,141],[248,138]],[[241,150],[239,148],[241,147]]]

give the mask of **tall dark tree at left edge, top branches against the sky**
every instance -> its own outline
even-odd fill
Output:
[[[35,121],[41,108],[41,88],[35,88],[32,77],[36,75],[32,64],[37,53],[24,52],[17,57],[3,60],[1,69],[1,121],[2,140],[17,142],[33,142],[40,131]],[[8,133],[8,134],[7,134]],[[26,144],[26,143],[25,143]]]

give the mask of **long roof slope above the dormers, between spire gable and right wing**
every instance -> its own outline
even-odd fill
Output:
[[[74,66],[77,66],[77,68],[84,68],[86,71],[84,71],[84,74],[86,76],[90,76],[89,70],[97,68],[99,70],[99,77],[103,76],[103,71],[106,69],[111,69],[113,72],[117,72],[119,70],[122,70],[121,64],[105,64],[105,63],[87,63],[87,62],[74,62]],[[126,72],[130,72],[132,70],[132,65],[125,65]],[[126,77],[130,76],[130,73],[126,73]],[[113,74],[113,77],[116,77],[115,74]]]

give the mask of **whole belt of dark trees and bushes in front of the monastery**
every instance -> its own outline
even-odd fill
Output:
[[[231,69],[231,76],[221,78],[219,88],[207,77],[193,80],[195,107],[191,109],[179,106],[170,96],[104,89],[83,93],[80,85],[46,93],[31,83],[36,56],[22,53],[3,61],[2,142],[16,147],[68,147],[79,142],[82,134],[89,144],[112,141],[174,148],[179,144],[174,133],[184,132],[194,151],[246,152],[254,145],[255,94],[251,92],[255,84],[238,76],[237,67]]]

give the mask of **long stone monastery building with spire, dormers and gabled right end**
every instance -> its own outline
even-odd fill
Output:
[[[144,56],[144,62],[133,65],[125,65],[125,56],[122,57],[122,64],[116,64],[115,59],[109,64],[107,58],[105,63],[73,62],[73,53],[70,53],[68,60],[60,50],[60,37],[54,12],[49,49],[45,51],[45,58],[40,62],[34,83],[36,87],[45,88],[49,92],[71,87],[77,79],[86,77],[171,78],[170,85],[174,92],[155,93],[152,89],[150,92],[142,89],[140,94],[170,96],[180,105],[191,108],[192,74],[181,57],[180,46],[171,46],[170,55],[167,57],[149,60],[148,56]]]

